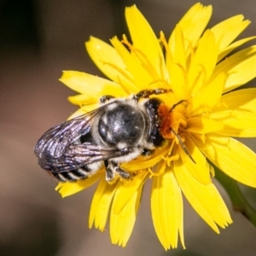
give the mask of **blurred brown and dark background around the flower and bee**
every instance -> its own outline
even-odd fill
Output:
[[[111,244],[108,228],[103,233],[88,228],[95,186],[61,199],[55,182],[37,164],[33,147],[38,138],[77,109],[67,102],[67,96],[75,93],[58,81],[61,71],[102,76],[85,52],[84,42],[90,35],[108,42],[113,35],[127,34],[125,6],[133,3],[154,32],[158,35],[162,30],[167,37],[196,1],[0,1],[0,255],[255,255],[255,228],[232,211],[221,188],[234,224],[216,235],[185,201],[187,249],[179,246],[165,252],[154,233],[148,183],[131,239],[122,248]],[[201,3],[213,5],[210,26],[243,14],[253,23],[241,37],[256,35],[255,0]],[[255,141],[246,143],[256,149]],[[244,192],[255,202],[253,189]]]

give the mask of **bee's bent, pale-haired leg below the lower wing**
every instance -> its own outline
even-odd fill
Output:
[[[106,180],[108,182],[113,181],[116,174],[124,179],[129,179],[131,177],[129,172],[125,172],[125,170],[123,170],[119,164],[113,160],[105,160],[104,165],[106,167]]]

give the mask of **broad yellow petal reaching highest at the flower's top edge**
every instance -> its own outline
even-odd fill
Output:
[[[201,3],[195,3],[183,18],[178,22],[183,31],[185,38],[185,49],[189,49],[189,44],[195,47],[201,33],[205,30],[210,18],[212,16],[212,5],[203,6]],[[169,45],[175,43],[172,35],[169,39]]]

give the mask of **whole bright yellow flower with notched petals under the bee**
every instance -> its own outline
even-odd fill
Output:
[[[256,187],[256,154],[233,138],[256,137],[256,89],[234,90],[256,76],[256,46],[230,55],[255,37],[233,43],[250,23],[242,15],[205,30],[211,15],[212,6],[196,3],[166,40],[163,32],[156,38],[136,6],[127,8],[132,44],[125,36],[121,41],[112,38],[112,46],[98,38],[85,44],[109,80],[75,71],[64,72],[61,77],[61,82],[79,92],[69,101],[83,106],[72,117],[97,108],[102,95],[124,97],[164,88],[172,90],[159,96],[167,109],[183,101],[166,120],[166,144],[150,157],[122,165],[136,174],[131,181],[119,179],[110,184],[101,170],[87,180],[61,183],[56,188],[64,197],[100,180],[89,223],[105,230],[110,216],[114,244],[125,247],[129,240],[148,178],[153,179],[154,229],[165,249],[177,247],[178,240],[184,247],[183,195],[215,232],[219,232],[218,226],[225,228],[232,222],[212,183],[211,162],[240,183]]]

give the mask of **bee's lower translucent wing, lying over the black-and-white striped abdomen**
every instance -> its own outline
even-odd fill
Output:
[[[84,144],[69,145],[59,158],[39,158],[38,164],[50,172],[69,172],[92,163],[108,160],[114,157],[129,154],[131,148],[120,150],[117,148],[101,148],[99,146]]]

